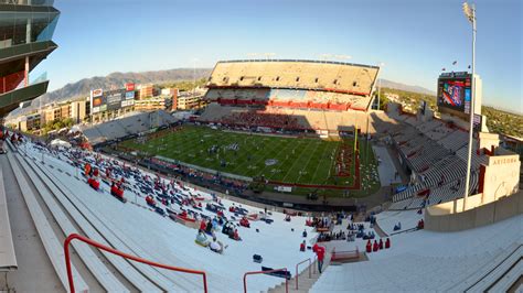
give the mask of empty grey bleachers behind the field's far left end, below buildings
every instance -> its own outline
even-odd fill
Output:
[[[169,126],[175,119],[166,111],[135,112],[113,121],[99,124],[86,124],[82,132],[90,143],[110,141],[130,134],[137,134],[161,126]]]

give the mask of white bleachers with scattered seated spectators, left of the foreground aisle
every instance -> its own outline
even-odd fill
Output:
[[[40,152],[44,154],[41,156]],[[71,158],[77,158],[74,153],[64,153],[30,144],[19,148],[18,152],[11,151],[8,155],[13,169],[17,169],[17,177],[21,180],[23,195],[33,198],[32,202],[25,198],[25,202],[28,205],[32,204],[30,206],[31,215],[35,219],[44,248],[62,285],[66,289],[68,283],[65,273],[63,236],[73,232],[84,235],[128,254],[181,268],[204,270],[207,273],[210,292],[223,292],[224,289],[227,289],[227,292],[242,291],[241,276],[243,273],[259,270],[259,264],[250,260],[253,248],[256,248],[256,253],[264,256],[265,265],[275,265],[275,268],[289,265],[288,263],[293,264],[303,257],[310,257],[293,248],[302,240],[314,239],[316,234],[312,229],[306,228],[310,235],[308,238],[302,238],[301,234],[289,232],[289,230],[301,231],[303,217],[296,217],[292,223],[288,223],[284,220],[284,214],[275,211],[270,215],[274,220],[270,226],[265,221],[253,220],[250,229],[238,227],[242,241],[231,240],[223,234],[216,232],[218,239],[228,247],[227,253],[217,254],[194,243],[194,229],[177,224],[169,216],[157,214],[158,208],[154,213],[154,209],[146,205],[147,193],[141,191],[143,185],[140,185],[145,184],[143,177],[141,183],[132,176],[126,180],[126,183],[129,184],[128,188],[126,187],[128,202],[124,204],[109,196],[107,188],[104,188],[103,185],[100,191],[96,192],[85,184],[82,176],[79,180],[73,176],[76,167]],[[45,163],[41,163],[40,160],[44,160]],[[88,161],[95,163],[93,156]],[[110,163],[104,161],[99,166],[111,166],[115,172],[116,170],[121,171],[121,163],[118,169],[115,162],[113,160]],[[25,180],[23,173],[28,174],[28,181],[23,181]],[[151,185],[152,177],[150,176],[152,174],[148,173],[148,176],[147,182]],[[182,195],[186,198],[203,196],[206,198],[204,200],[212,198],[211,195],[196,192],[191,187],[182,186],[178,192],[177,197]],[[158,192],[152,193],[159,200],[157,207],[164,207],[166,204],[160,203],[161,198],[158,196]],[[36,197],[41,197],[42,200],[38,200]],[[140,202],[143,203],[140,204]],[[225,208],[224,215],[237,223],[239,214],[235,215],[227,209],[234,203],[223,199],[222,204]],[[47,215],[42,211],[43,205],[45,205],[45,209],[50,210]],[[206,218],[212,218],[215,215],[207,209],[202,210],[194,206],[181,207],[181,203],[172,204],[169,208],[180,213],[181,209],[177,207],[179,206],[192,214],[198,211],[202,217],[205,215]],[[258,214],[263,210],[246,205],[243,206],[243,209],[247,214]],[[57,227],[53,228],[52,226]],[[284,241],[275,243],[277,240]],[[271,245],[269,246],[269,243]],[[78,292],[87,290],[90,292],[202,291],[201,275],[183,274],[128,261],[106,252],[99,252],[78,241],[73,241],[72,246],[75,256],[73,272]],[[276,249],[271,249],[274,247]],[[244,261],[238,261],[238,259]],[[79,263],[85,265],[79,265]],[[300,271],[305,269],[302,267]],[[280,282],[279,278],[252,278],[248,287],[254,291],[267,290]]]

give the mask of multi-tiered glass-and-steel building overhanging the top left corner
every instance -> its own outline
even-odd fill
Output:
[[[2,1],[0,6],[0,117],[47,90],[45,75],[30,82],[30,73],[57,47],[51,37],[60,11],[52,2]]]

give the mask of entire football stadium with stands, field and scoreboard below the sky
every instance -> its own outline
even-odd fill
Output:
[[[313,58],[31,109],[61,13],[0,1],[1,292],[523,290],[523,140],[489,130],[473,64],[414,110],[380,101],[383,64]]]

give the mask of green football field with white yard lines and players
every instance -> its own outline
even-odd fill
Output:
[[[185,126],[160,138],[136,139],[120,145],[242,176],[265,176],[268,181],[292,184],[353,186],[356,180],[353,163],[345,166],[351,175],[335,176],[339,171],[335,162],[343,143],[345,149],[353,149],[352,139],[285,138]],[[362,174],[372,173],[374,169],[372,149],[366,146],[362,142],[360,148]]]

